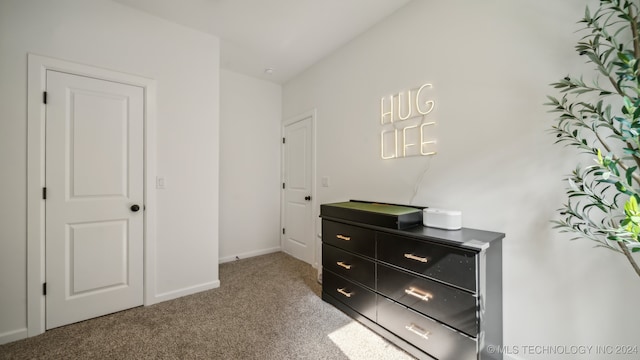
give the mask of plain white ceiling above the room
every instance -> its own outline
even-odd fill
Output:
[[[215,35],[222,68],[284,83],[410,0],[113,1]]]

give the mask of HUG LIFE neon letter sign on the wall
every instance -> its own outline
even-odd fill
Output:
[[[436,140],[431,136],[436,122],[427,119],[435,108],[433,100],[426,100],[432,88],[424,84],[380,98],[382,159],[436,154]]]

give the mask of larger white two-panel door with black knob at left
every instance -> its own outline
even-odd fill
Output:
[[[143,303],[143,88],[47,71],[46,328]]]

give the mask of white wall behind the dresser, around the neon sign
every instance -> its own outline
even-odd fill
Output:
[[[283,118],[317,108],[316,183],[330,179],[318,203],[409,203],[425,172],[414,204],[506,233],[504,343],[523,359],[576,358],[524,345],[638,345],[625,304],[640,298],[640,279],[624,258],[549,222],[575,153],[553,145],[542,104],[549,83],[583,68],[573,47],[584,3],[413,1],[283,87]],[[438,154],[382,160],[380,98],[424,83],[434,86]]]

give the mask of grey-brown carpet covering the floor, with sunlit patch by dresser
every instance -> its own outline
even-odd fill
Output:
[[[0,345],[0,359],[413,359],[320,298],[284,253],[220,265],[221,286]]]

